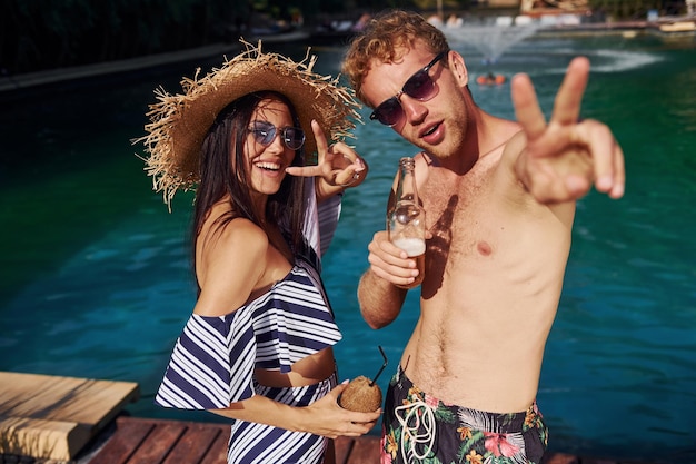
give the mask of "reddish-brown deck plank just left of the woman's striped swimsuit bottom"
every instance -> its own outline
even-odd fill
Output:
[[[216,441],[222,435],[222,448],[227,450],[227,435],[229,435],[229,425],[220,425],[216,427],[208,424],[191,423],[187,426],[183,435],[179,438],[169,456],[163,464],[193,464],[203,461],[206,455],[213,448]],[[225,462],[226,454],[221,456]]]

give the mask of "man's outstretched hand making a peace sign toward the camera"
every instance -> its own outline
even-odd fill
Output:
[[[593,184],[612,198],[624,195],[624,154],[610,129],[597,120],[578,121],[588,76],[589,60],[575,58],[556,95],[548,124],[529,77],[513,78],[513,105],[527,139],[515,170],[540,203],[578,199]]]

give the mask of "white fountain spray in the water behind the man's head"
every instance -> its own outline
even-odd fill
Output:
[[[441,24],[439,29],[445,33],[453,47],[466,43],[475,47],[484,55],[484,62],[494,63],[515,43],[533,36],[539,26],[527,17],[497,17],[483,22],[460,22]]]

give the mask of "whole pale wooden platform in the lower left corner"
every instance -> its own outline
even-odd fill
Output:
[[[70,461],[138,396],[131,382],[0,372],[0,454]]]

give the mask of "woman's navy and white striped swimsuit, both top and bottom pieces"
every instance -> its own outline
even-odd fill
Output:
[[[307,406],[336,376],[297,388],[253,381],[262,368],[288,373],[294,363],[341,339],[316,269],[298,261],[266,294],[225,316],[191,315],[177,340],[155,403],[181,409],[220,409],[253,395]],[[235,421],[228,463],[322,462],[324,437]],[[270,454],[269,454],[270,453]]]

